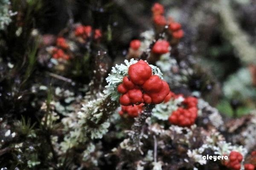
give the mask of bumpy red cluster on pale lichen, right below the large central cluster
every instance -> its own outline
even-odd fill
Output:
[[[169,122],[181,127],[189,127],[195,123],[198,116],[198,99],[195,97],[187,97],[182,104],[185,106],[179,107],[177,111],[173,111],[169,116]]]

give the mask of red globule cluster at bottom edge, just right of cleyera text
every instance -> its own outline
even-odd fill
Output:
[[[241,155],[241,153],[236,151],[231,151],[229,155],[229,161],[225,162],[225,165],[226,167],[232,170],[240,170],[242,160],[243,160],[243,156]]]

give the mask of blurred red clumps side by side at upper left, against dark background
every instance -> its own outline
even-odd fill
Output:
[[[89,38],[93,32],[93,29],[91,26],[78,26],[75,30],[75,35],[77,37],[82,37],[84,40]],[[99,38],[102,37],[102,32],[100,29],[95,29],[93,34],[94,40],[99,40]]]

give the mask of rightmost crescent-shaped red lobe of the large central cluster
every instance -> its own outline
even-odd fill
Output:
[[[169,85],[167,84],[167,82],[162,81],[162,83],[163,83],[163,86],[160,89],[160,91],[148,94],[151,97],[153,104],[162,103],[163,100],[166,98],[166,96],[170,92],[170,88],[169,88]]]

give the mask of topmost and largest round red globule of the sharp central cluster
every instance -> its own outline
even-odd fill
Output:
[[[135,85],[143,85],[143,83],[151,77],[152,69],[148,63],[140,60],[137,63],[130,65],[128,75]]]

